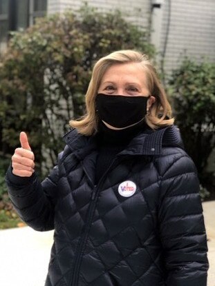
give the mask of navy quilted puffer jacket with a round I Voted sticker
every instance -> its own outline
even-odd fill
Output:
[[[199,182],[178,129],[135,136],[97,185],[95,138],[64,139],[42,183],[6,175],[21,218],[55,229],[46,286],[206,286]]]

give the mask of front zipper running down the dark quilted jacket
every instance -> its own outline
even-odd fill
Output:
[[[91,203],[89,205],[88,208],[88,219],[86,221],[86,225],[84,228],[84,233],[82,234],[82,237],[80,238],[80,242],[77,245],[77,249],[75,252],[75,258],[74,258],[74,269],[73,269],[73,277],[71,279],[71,282],[69,283],[69,285],[71,286],[77,286],[78,285],[78,279],[79,279],[79,273],[80,273],[80,267],[81,267],[81,263],[82,263],[82,255],[84,254],[84,249],[85,249],[85,244],[86,244],[86,239],[88,237],[88,233],[90,231],[91,228],[91,223],[93,220],[93,214],[95,211],[95,205],[97,203],[97,197],[99,194],[99,186],[102,184],[102,181],[104,180],[104,177],[106,176],[106,174],[109,172],[109,170],[111,169],[111,167],[113,167],[113,163],[115,163],[115,160],[111,163],[111,165],[109,166],[109,168],[106,170],[106,172],[104,173],[104,175],[102,176],[102,178],[100,178],[100,181],[98,182],[97,185],[93,185],[93,193],[91,196]],[[82,165],[84,172],[86,173],[86,175],[88,176],[88,172],[85,169],[85,167]],[[88,176],[88,178],[90,179],[90,176]],[[90,179],[91,181],[91,179]],[[91,181],[91,184],[93,184],[93,182]]]

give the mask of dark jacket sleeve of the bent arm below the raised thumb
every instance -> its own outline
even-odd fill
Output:
[[[35,230],[54,228],[57,181],[57,166],[42,183],[35,173],[30,177],[12,174],[11,165],[6,172],[6,184],[12,204],[21,219]]]

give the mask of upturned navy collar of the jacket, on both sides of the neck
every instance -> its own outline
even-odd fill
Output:
[[[82,157],[96,149],[94,136],[83,136],[77,133],[75,129],[69,131],[63,138],[71,150],[80,155],[82,154]],[[151,133],[142,132],[138,134],[120,154],[159,155],[161,154],[162,146],[183,148],[180,132],[175,125],[151,131]]]

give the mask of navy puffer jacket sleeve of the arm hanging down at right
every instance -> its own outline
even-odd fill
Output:
[[[161,176],[160,238],[167,286],[207,285],[207,239],[196,167],[183,151]],[[167,164],[166,164],[167,166]]]

